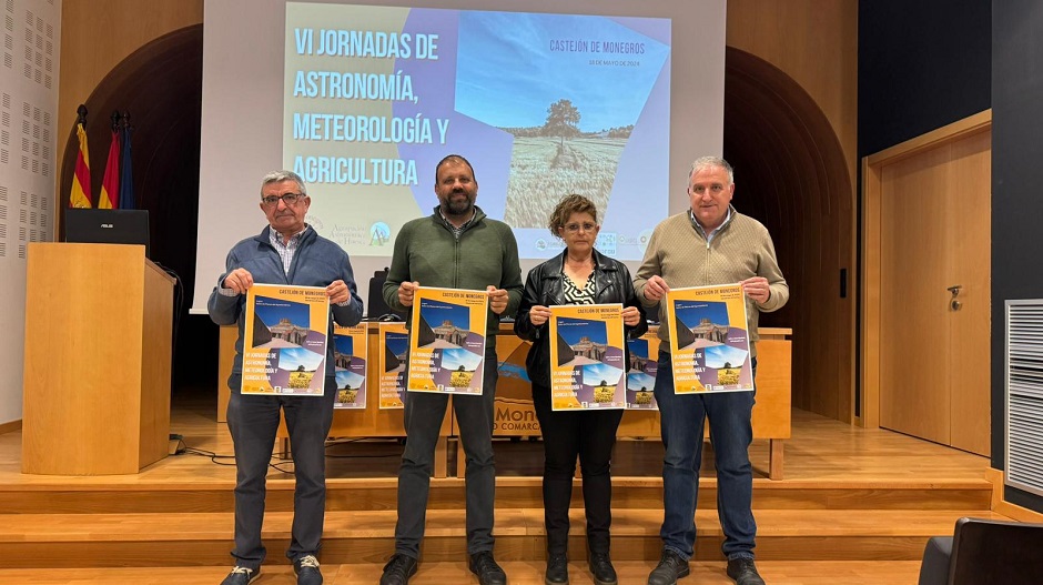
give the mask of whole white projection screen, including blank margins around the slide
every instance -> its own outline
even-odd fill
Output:
[[[523,270],[561,251],[546,224],[567,193],[595,201],[597,248],[635,268],[688,206],[690,161],[721,153],[725,3],[207,0],[192,312],[265,225],[275,169],[305,179],[307,222],[348,252],[364,299],[450,153]]]

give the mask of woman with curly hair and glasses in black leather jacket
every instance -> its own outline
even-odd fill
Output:
[[[525,283],[515,333],[533,342],[526,370],[533,405],[544,436],[544,522],[547,529],[548,585],[568,583],[568,508],[576,456],[583,472],[587,515],[588,567],[598,585],[615,585],[609,558],[612,522],[611,453],[621,410],[555,412],[550,404],[550,305],[622,305],[627,339],[648,330],[645,310],[634,293],[630,271],[597,250],[597,208],[583,195],[566,195],[550,214],[550,233],[565,241],[561,254],[534,268]],[[624,363],[629,363],[625,356]]]

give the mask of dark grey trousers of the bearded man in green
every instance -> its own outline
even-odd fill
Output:
[[[408,363],[408,362],[407,362]],[[486,346],[480,396],[453,396],[466,456],[465,498],[467,553],[493,551],[493,501],[496,467],[493,458],[493,407],[497,381],[496,347]],[[398,467],[398,523],[395,553],[419,558],[427,517],[427,494],[434,470],[435,443],[445,418],[448,394],[406,392],[406,447]]]

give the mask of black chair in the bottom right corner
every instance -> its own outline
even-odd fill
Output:
[[[928,541],[920,585],[1039,585],[1043,524],[962,517],[952,536]]]

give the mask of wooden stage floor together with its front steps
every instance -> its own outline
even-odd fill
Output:
[[[0,583],[219,583],[230,563],[235,467],[227,426],[216,422],[214,402],[205,392],[178,395],[171,432],[183,436],[188,452],[134,475],[23,475],[21,433],[0,435]],[[989,510],[985,457],[803,411],[793,411],[792,420],[783,480],[767,477],[767,441],[755,441],[750,450],[758,565],[772,585],[913,584],[929,536],[951,533],[962,515],[998,517]],[[103,422],[98,432],[104,432]],[[497,558],[512,585],[537,585],[545,549],[538,477],[543,445],[498,440],[495,448]],[[394,548],[401,454],[395,440],[328,444],[322,558],[327,585],[378,581]],[[658,558],[661,457],[657,437],[616,445],[612,556],[620,583],[644,583]],[[692,576],[681,585],[731,583],[719,552],[711,458],[703,465]],[[291,462],[273,458],[265,516],[270,554],[257,585],[294,582],[282,556],[288,542],[291,471]],[[455,477],[432,482],[416,585],[477,583],[463,562],[462,483]],[[591,583],[583,559],[578,488],[573,508],[571,582]]]

